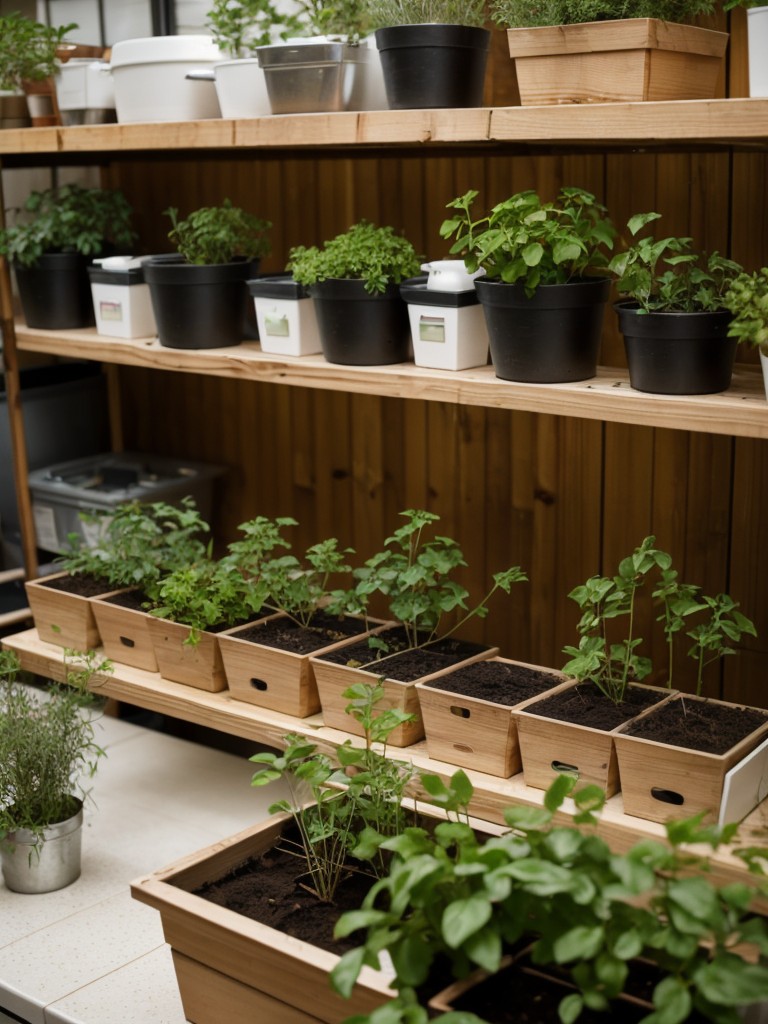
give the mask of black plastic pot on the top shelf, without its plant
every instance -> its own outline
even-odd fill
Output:
[[[490,33],[466,25],[395,25],[376,30],[393,111],[482,106]]]

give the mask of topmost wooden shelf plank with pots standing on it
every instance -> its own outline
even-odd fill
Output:
[[[0,131],[0,156],[446,144],[768,148],[768,99],[364,111]]]

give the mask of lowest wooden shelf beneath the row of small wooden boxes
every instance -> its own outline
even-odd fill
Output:
[[[48,679],[63,679],[61,648],[44,643],[38,637],[37,630],[31,629],[6,637],[2,645],[18,654],[22,666],[27,671]],[[95,689],[104,696],[147,711],[205,725],[274,749],[284,748],[284,737],[289,732],[310,738],[321,750],[331,755],[346,739],[351,738],[353,742],[361,742],[360,739],[350,737],[338,729],[327,728],[323,724],[322,714],[305,719],[291,718],[288,715],[234,700],[227,690],[208,693],[191,686],[170,682],[159,673],[142,672],[124,665],[116,664],[113,674]],[[454,765],[432,760],[423,741],[407,748],[392,748],[391,753],[395,758],[412,761],[422,771],[443,777],[456,771]],[[481,772],[468,771],[467,774],[475,790],[471,810],[481,821],[504,824],[504,810],[511,804],[523,804],[529,807],[543,805],[543,792],[526,786],[522,775],[502,779]],[[563,821],[568,820],[569,813],[566,807],[561,815]],[[739,844],[764,845],[767,828],[768,802],[764,802],[744,819],[739,834]],[[640,839],[663,839],[665,836],[663,825],[625,814],[621,793],[607,802],[598,830],[616,851],[627,850]],[[725,884],[736,880],[749,882],[743,862],[730,850],[724,848],[714,854],[712,851],[701,852],[708,853],[712,877],[718,883]],[[768,911],[768,903],[765,909]]]

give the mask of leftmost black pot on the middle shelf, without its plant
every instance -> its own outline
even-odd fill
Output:
[[[89,263],[80,253],[46,253],[36,266],[14,266],[28,327],[63,331],[96,323]]]

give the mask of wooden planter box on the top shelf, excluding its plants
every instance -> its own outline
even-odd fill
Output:
[[[508,29],[520,102],[711,99],[728,33],[652,17]]]

